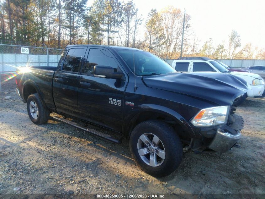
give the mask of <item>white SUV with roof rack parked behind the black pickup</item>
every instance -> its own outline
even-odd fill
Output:
[[[248,97],[265,96],[265,84],[260,75],[236,71],[231,72],[217,61],[209,59],[207,57],[180,57],[177,60],[173,60],[171,66],[177,71],[181,72],[212,71],[236,75],[247,81]]]

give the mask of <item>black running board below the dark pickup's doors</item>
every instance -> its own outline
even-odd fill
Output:
[[[80,129],[80,130],[86,131],[86,132],[91,133],[91,134],[93,134],[93,135],[97,135],[98,137],[101,137],[101,138],[103,138],[103,139],[106,139],[106,140],[108,140],[108,141],[110,141],[110,142],[113,142],[113,143],[115,143],[115,144],[120,144],[120,143],[121,143],[121,140],[118,140],[118,139],[116,139],[116,138],[114,138],[114,137],[112,137],[112,136],[110,136],[110,135],[108,135],[108,134],[105,134],[105,133],[99,132],[98,130],[88,129],[88,128],[84,127],[84,126],[81,126],[81,125],[79,125],[79,124],[77,124],[77,123],[75,123],[75,122],[69,121],[69,120],[67,120],[67,119],[59,118],[59,117],[57,117],[57,116],[52,117],[52,119],[54,119],[54,120],[56,120],[56,121],[58,121],[58,122],[63,122],[63,123],[65,123],[65,124],[69,124],[69,125],[71,125],[71,126],[74,126],[74,127],[77,128],[77,129]]]

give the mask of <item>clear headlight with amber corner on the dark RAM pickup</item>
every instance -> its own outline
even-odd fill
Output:
[[[214,126],[225,124],[230,106],[204,108],[191,120],[194,126]]]

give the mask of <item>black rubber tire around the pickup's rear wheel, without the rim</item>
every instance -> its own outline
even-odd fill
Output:
[[[38,108],[38,116],[37,118],[34,118],[31,115],[30,112],[30,102],[34,102],[37,105]],[[34,124],[44,124],[46,123],[49,118],[50,118],[50,111],[44,107],[43,103],[40,100],[40,97],[37,93],[31,94],[28,99],[27,99],[27,111],[29,115],[29,119],[34,123]]]

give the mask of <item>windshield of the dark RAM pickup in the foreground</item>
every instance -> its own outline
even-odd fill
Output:
[[[156,55],[139,50],[116,49],[135,75],[161,75],[176,72],[171,65]]]

